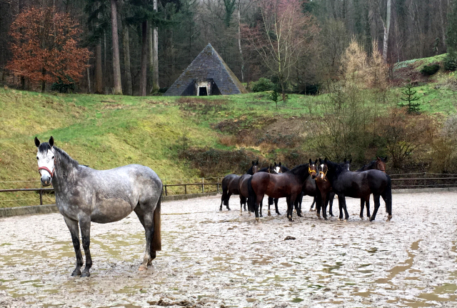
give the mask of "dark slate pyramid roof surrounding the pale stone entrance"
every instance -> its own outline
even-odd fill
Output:
[[[201,51],[164,95],[181,96],[196,79],[213,79],[223,95],[247,93],[243,84],[211,44]]]

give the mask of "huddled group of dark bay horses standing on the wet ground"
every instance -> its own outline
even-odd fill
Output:
[[[356,172],[351,172],[351,162],[336,164],[328,159],[309,159],[308,164],[301,164],[293,169],[288,169],[281,163],[259,169],[258,161],[252,162],[251,168],[246,174],[238,176],[229,174],[222,180],[221,207],[224,204],[229,207],[229,199],[232,194],[240,197],[240,212],[243,206],[246,211],[255,212],[256,220],[262,217],[263,197],[268,196],[268,216],[271,215],[270,205],[275,204],[276,214],[278,211],[278,198],[286,198],[287,217],[292,221],[293,208],[295,207],[298,217],[301,217],[301,201],[303,195],[314,198],[316,203],[316,215],[321,218],[321,209],[324,219],[327,219],[326,208],[329,205],[329,214],[333,216],[332,204],[335,194],[338,196],[340,214],[338,219],[349,217],[346,209],[346,197],[361,199],[360,217],[363,219],[363,209],[366,207],[366,216],[370,221],[376,218],[380,206],[380,197],[386,203],[388,219],[392,218],[392,185],[391,178],[386,174],[387,157],[376,157],[369,164],[361,167]],[[373,194],[374,210],[370,215],[370,195]],[[313,207],[311,205],[311,209]],[[260,209],[260,211],[259,211]]]

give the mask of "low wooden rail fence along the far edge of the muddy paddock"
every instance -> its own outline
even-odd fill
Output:
[[[418,177],[418,175],[423,174],[423,177]],[[430,176],[430,177],[428,177]],[[414,188],[439,188],[439,187],[457,187],[457,174],[433,174],[433,173],[414,173],[414,174],[392,174],[392,188],[393,189],[414,189]],[[395,177],[399,177],[396,179]],[[411,178],[410,178],[411,177]],[[214,182],[205,182],[205,180],[214,180]],[[184,194],[188,194],[188,187],[201,187],[201,193],[209,190],[211,187],[215,187],[216,192],[221,191],[221,182],[219,182],[220,177],[214,178],[201,178],[201,182],[194,183],[180,183],[180,184],[168,184],[171,181],[181,182],[183,180],[192,180],[192,179],[164,179],[163,181],[163,190],[162,194],[164,196],[169,195],[169,188],[171,187],[184,187]],[[13,182],[29,182],[29,181],[9,181],[8,183]],[[31,181],[30,181],[31,182]],[[199,190],[200,190],[199,189]],[[0,189],[2,192],[38,192],[40,204],[43,204],[43,195],[52,194],[54,188],[20,188],[20,189]],[[175,191],[176,192],[176,191]],[[1,200],[0,202],[14,202],[20,201],[22,199],[11,199],[11,200]]]

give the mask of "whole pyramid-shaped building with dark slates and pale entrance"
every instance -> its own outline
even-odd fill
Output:
[[[230,95],[247,93],[226,62],[208,44],[184,70],[166,96]]]

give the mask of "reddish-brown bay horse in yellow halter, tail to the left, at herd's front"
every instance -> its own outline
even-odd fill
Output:
[[[258,172],[248,179],[248,209],[256,213],[257,221],[258,206],[265,194],[273,198],[286,197],[287,217],[290,221],[293,220],[293,204],[298,194],[301,193],[303,184],[305,184],[308,177],[316,177],[316,170],[311,170],[310,166],[310,164],[301,164],[282,174]],[[301,215],[299,210],[297,210],[297,214],[298,216]]]

